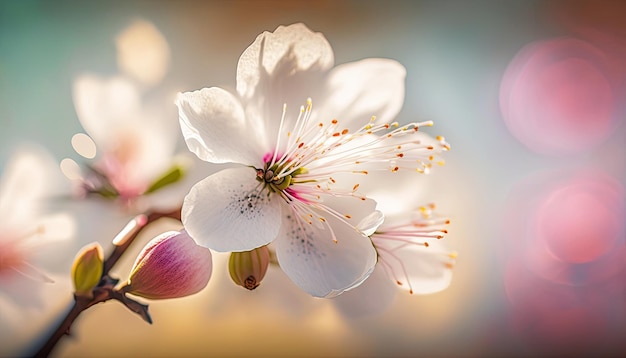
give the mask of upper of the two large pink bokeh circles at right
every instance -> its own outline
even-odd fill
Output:
[[[618,117],[606,54],[559,38],[524,47],[506,69],[500,108],[510,132],[529,149],[564,155],[604,141]]]

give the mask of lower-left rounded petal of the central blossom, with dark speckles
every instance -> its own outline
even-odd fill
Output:
[[[268,197],[251,168],[224,169],[185,197],[182,221],[198,244],[215,251],[247,251],[278,234],[281,200]]]

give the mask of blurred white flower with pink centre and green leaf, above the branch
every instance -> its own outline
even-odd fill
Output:
[[[61,167],[66,176],[87,193],[144,206],[139,210],[182,203],[185,190],[176,191],[175,197],[159,197],[161,191],[157,192],[180,180],[189,161],[175,156],[179,132],[168,117],[175,116],[174,106],[146,103],[139,89],[124,77],[94,75],[76,79],[74,105],[88,135],[75,135],[72,145],[78,154],[95,159],[87,170],[65,159]],[[146,194],[152,194],[152,200]]]

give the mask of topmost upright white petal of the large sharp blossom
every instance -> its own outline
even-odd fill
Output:
[[[284,105],[284,128],[290,130],[300,106],[309,97],[315,101],[322,96],[333,62],[326,38],[303,24],[264,32],[243,52],[237,66],[237,92],[249,120],[263,126],[268,145],[276,143]]]

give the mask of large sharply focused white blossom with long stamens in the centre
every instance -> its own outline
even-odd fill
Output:
[[[389,121],[404,100],[402,65],[367,59],[333,68],[333,61],[323,35],[281,26],[241,55],[236,93],[212,87],[177,101],[193,153],[242,164],[192,188],[182,212],[187,232],[216,251],[273,242],[285,273],[319,297],[359,285],[377,257],[357,228],[380,215],[375,202],[358,183],[334,176],[424,171],[434,149],[413,138],[430,122]],[[447,146],[443,139],[439,145]]]

